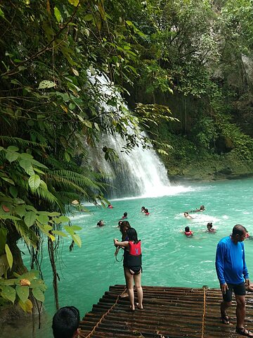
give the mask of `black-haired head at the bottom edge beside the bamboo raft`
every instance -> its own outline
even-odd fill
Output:
[[[80,322],[80,313],[74,306],[64,306],[53,316],[53,337],[72,338]]]

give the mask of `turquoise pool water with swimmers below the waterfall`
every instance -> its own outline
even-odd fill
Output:
[[[181,193],[180,189],[176,189],[176,194],[171,189],[170,196],[115,200],[112,201],[112,209],[88,206],[90,213],[77,213],[72,218],[72,224],[82,226],[79,232],[82,248],[75,246],[74,251],[69,253],[70,242],[60,247],[60,306],[77,306],[83,316],[110,285],[124,284],[122,263],[115,261],[113,245],[113,238],[121,238],[117,223],[124,211],[142,240],[143,285],[219,287],[214,268],[219,239],[231,234],[235,224],[244,225],[253,237],[253,180],[190,183],[185,187]],[[193,213],[193,220],[183,218],[184,211],[199,208],[201,204],[205,205],[204,213]],[[143,215],[141,206],[148,208],[150,215]],[[96,223],[100,219],[105,221],[105,226],[98,228]],[[207,222],[213,223],[217,230],[215,234],[205,231]],[[193,237],[188,238],[181,233],[186,225],[193,230]],[[245,240],[245,251],[251,277],[253,240]],[[46,327],[51,325],[51,315],[55,310],[51,267],[46,251],[42,268],[48,285],[45,302],[48,324],[42,327],[37,337],[51,337]],[[145,306],[145,294],[143,304]],[[8,330],[8,338],[15,337],[14,332],[12,336]],[[22,338],[20,333],[19,336]]]

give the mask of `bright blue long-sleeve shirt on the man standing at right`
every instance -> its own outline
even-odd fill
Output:
[[[243,242],[235,244],[231,237],[221,239],[216,249],[215,266],[221,284],[240,284],[249,278]]]

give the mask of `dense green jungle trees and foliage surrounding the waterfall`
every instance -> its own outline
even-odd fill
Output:
[[[170,175],[253,173],[252,10],[252,0],[0,1],[1,303],[29,312],[44,301],[46,242],[58,307],[55,251],[65,237],[82,245],[67,214],[108,202],[106,173],[89,165],[103,134],[120,134],[126,152],[153,144]]]

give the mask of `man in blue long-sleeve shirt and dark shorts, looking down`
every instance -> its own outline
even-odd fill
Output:
[[[223,301],[221,302],[221,320],[229,324],[226,310],[232,305],[232,292],[235,293],[236,319],[235,332],[246,337],[253,337],[253,333],[245,329],[245,284],[249,286],[249,274],[245,263],[245,249],[243,241],[247,230],[242,225],[235,225],[231,236],[220,240],[216,249],[216,273],[221,285]]]

